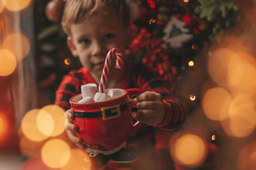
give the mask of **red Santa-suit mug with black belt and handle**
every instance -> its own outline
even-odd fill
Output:
[[[81,94],[71,97],[74,124],[79,129],[77,136],[91,150],[104,153],[120,148],[141,127],[140,122],[133,124],[131,114],[131,108],[136,107],[131,98],[141,93],[141,89],[127,89],[120,97],[98,103],[77,103]]]

